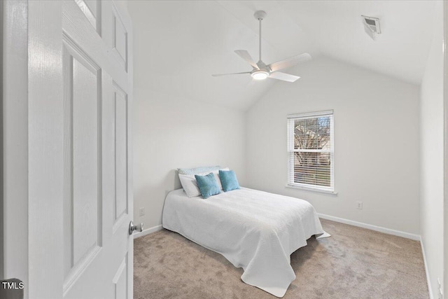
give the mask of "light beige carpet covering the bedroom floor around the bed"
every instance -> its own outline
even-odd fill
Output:
[[[419,242],[321,223],[332,236],[311,237],[291,255],[297,278],[283,298],[429,298]],[[244,284],[242,272],[176,232],[161,230],[134,240],[135,299],[276,298]]]

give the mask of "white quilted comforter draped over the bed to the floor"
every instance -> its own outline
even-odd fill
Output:
[[[207,200],[174,190],[165,200],[162,225],[221,253],[244,269],[242,281],[277,297],[295,279],[290,254],[323,234],[309,202],[248,188]]]

